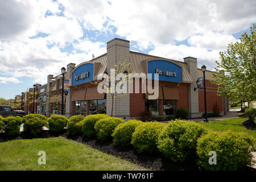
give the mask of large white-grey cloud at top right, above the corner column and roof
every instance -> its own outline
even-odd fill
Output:
[[[216,16],[209,16],[210,3]],[[245,5],[246,4],[246,5]],[[255,1],[120,1],[113,0],[108,17],[117,34],[142,44],[168,44],[209,30],[231,34],[255,22]]]

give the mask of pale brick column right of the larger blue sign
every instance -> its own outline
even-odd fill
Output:
[[[194,88],[197,87],[196,81],[198,78],[197,59],[194,57],[185,57],[183,59],[184,59],[184,62],[188,64],[188,71],[193,79],[193,82],[191,84],[188,84],[189,117],[191,118],[201,117],[201,114],[199,114],[198,89],[194,91]]]

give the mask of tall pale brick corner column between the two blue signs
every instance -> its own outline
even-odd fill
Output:
[[[110,69],[115,68],[115,64],[119,64],[119,61],[126,64],[130,63],[130,41],[123,39],[112,39],[107,43],[107,71],[110,76]],[[129,85],[127,83],[127,90]],[[123,94],[120,94],[123,95]],[[115,96],[118,96],[115,93]],[[110,93],[106,94],[106,113],[111,115],[112,112],[112,96]],[[127,91],[125,96],[115,97],[113,105],[113,117],[130,118],[130,94]]]

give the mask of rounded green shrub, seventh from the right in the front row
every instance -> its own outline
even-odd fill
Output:
[[[85,117],[81,114],[79,115],[73,115],[71,118],[69,118],[68,124],[67,124],[67,131],[68,135],[76,135],[80,134],[82,130],[81,121]]]

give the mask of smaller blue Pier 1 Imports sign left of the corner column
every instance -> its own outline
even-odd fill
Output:
[[[82,64],[72,73],[72,86],[93,81],[93,63]]]

